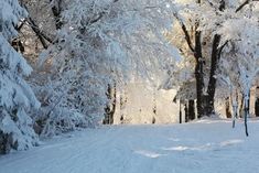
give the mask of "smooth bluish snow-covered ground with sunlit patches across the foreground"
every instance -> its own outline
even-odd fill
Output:
[[[258,173],[259,120],[114,126],[0,156],[0,173]]]

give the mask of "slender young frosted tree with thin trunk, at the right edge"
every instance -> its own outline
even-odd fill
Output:
[[[255,4],[240,13],[233,13],[230,20],[223,22],[222,29],[218,30],[224,40],[229,42],[224,52],[223,72],[226,78],[228,78],[230,88],[239,89],[245,98],[245,127],[247,136],[249,93],[259,73],[258,7]],[[235,105],[237,102],[234,102]]]

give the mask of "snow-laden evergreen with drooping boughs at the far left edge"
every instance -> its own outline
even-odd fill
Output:
[[[37,142],[25,110],[39,108],[40,104],[22,78],[32,68],[8,42],[17,34],[13,23],[25,14],[17,0],[0,1],[0,152],[3,153],[24,150]]]

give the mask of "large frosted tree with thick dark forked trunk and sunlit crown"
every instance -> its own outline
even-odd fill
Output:
[[[228,44],[228,40],[217,31],[222,29],[225,21],[230,21],[233,15],[238,15],[241,20],[245,14],[240,11],[255,3],[258,2],[252,0],[175,2],[177,11],[174,15],[179,22],[174,23],[174,29],[182,31],[182,34],[174,34],[172,43],[182,52],[184,58],[195,61],[193,73],[196,80],[198,117],[209,116],[215,111],[217,69],[224,47]]]

